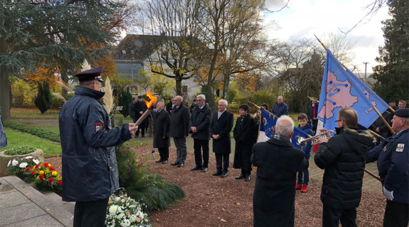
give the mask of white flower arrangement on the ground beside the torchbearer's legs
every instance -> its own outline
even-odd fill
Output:
[[[109,196],[105,225],[108,227],[152,226],[148,214],[143,211],[145,204],[124,195]]]

